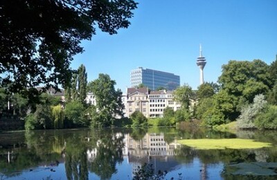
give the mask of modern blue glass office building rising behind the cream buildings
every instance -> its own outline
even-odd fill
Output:
[[[151,90],[163,87],[171,91],[180,86],[180,76],[139,67],[131,71],[131,86],[137,87],[139,84],[143,84]]]

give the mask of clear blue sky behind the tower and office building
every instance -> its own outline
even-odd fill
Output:
[[[181,85],[199,86],[199,44],[206,57],[204,81],[217,82],[229,60],[277,54],[276,0],[139,0],[127,29],[117,35],[98,30],[82,42],[84,53],[71,64],[84,64],[88,81],[107,73],[116,88],[130,87],[129,73],[139,66],[180,75]]]

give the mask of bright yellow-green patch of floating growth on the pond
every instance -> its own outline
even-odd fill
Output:
[[[262,143],[254,141],[253,139],[243,138],[199,138],[199,139],[182,139],[177,143],[187,145],[199,150],[223,150],[230,149],[257,149],[261,147],[271,147],[271,143]]]

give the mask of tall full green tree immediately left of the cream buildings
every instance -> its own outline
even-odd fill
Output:
[[[109,126],[112,124],[113,117],[123,116],[123,102],[121,100],[122,91],[115,90],[116,82],[109,78],[107,74],[99,74],[98,79],[92,82],[92,93],[96,97],[96,107],[102,118],[98,120],[108,120],[100,125]]]

